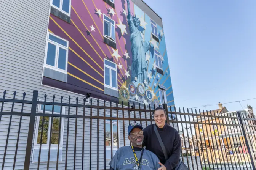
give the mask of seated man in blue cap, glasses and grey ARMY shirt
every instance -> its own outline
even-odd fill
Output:
[[[110,161],[110,170],[157,170],[160,162],[157,156],[142,148],[143,127],[138,123],[128,126],[128,139],[131,146],[123,146],[117,150]]]

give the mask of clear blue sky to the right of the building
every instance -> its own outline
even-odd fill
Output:
[[[144,2],[163,20],[176,107],[256,98],[255,0]],[[247,104],[256,112],[256,99]],[[224,104],[229,111],[241,105]]]

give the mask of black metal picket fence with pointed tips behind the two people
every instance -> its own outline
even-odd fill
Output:
[[[130,145],[128,124],[154,123],[154,105],[119,105],[69,97],[48,102],[0,99],[0,167],[4,169],[108,169],[115,151]],[[10,98],[10,97],[9,97]],[[40,98],[42,100],[40,100]],[[56,102],[59,101],[59,102]],[[256,118],[247,112],[191,112],[167,107],[167,124],[182,139],[181,160],[189,169],[256,168]],[[2,164],[1,164],[2,163]]]

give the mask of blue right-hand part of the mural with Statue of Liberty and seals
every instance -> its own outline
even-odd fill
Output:
[[[133,58],[131,81],[126,80],[123,85],[126,87],[128,84],[128,89],[121,88],[121,98],[141,102],[146,106],[148,104],[162,104],[160,103],[158,85],[163,85],[166,88],[166,102],[169,106],[174,106],[163,28],[136,5],[134,5],[134,16],[131,16],[129,0],[127,2],[127,20],[131,34]],[[124,96],[126,93],[130,94],[129,99],[127,95]]]

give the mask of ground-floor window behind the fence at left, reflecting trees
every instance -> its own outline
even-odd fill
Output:
[[[45,105],[45,113],[52,113],[52,105]],[[43,113],[44,105],[39,105],[38,113]],[[54,106],[54,114],[61,113],[61,106]],[[65,107],[62,107],[62,113],[65,113]],[[62,161],[62,143],[63,143],[63,131],[64,131],[64,118],[58,117],[37,117],[36,131],[35,131],[35,141],[33,148],[33,158],[32,162],[38,162],[38,155],[40,149],[40,140],[42,132],[42,123],[43,123],[43,134],[42,134],[42,148],[40,162],[47,162],[48,160],[48,149],[49,143],[51,143],[50,151],[50,161],[57,161],[57,151],[58,151],[58,142],[59,143],[59,161]],[[59,135],[59,124],[61,120],[61,129]],[[51,127],[51,121],[53,121],[53,126]],[[52,132],[51,132],[52,131]],[[51,132],[51,141],[50,141],[50,132]],[[60,139],[59,139],[60,137]]]

